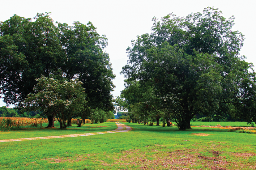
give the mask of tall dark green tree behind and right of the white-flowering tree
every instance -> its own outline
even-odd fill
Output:
[[[107,38],[100,37],[91,22],[85,26],[74,22],[74,26],[58,23],[61,31],[60,40],[66,53],[63,72],[69,79],[78,78],[86,89],[88,103],[80,112],[85,121],[91,109],[113,110],[111,63],[103,49],[107,46]]]

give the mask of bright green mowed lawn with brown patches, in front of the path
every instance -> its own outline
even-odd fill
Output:
[[[126,123],[132,131],[0,143],[0,169],[255,169],[256,135],[227,129],[161,128]],[[103,123],[98,124],[102,126]],[[105,128],[116,126],[107,122]],[[64,130],[67,134],[68,130]],[[71,131],[71,130],[70,130]],[[18,131],[16,131],[18,132]],[[30,131],[28,131],[28,134]],[[40,131],[38,131],[40,133]],[[197,136],[195,134],[209,134]],[[18,136],[20,134],[17,133]],[[220,155],[214,155],[212,150]]]

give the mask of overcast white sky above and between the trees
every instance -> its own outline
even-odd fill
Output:
[[[8,20],[14,14],[33,18],[36,13],[51,12],[52,19],[61,23],[83,24],[91,21],[100,35],[108,38],[106,49],[110,56],[116,79],[114,96],[124,89],[124,78],[120,75],[127,63],[126,49],[137,35],[150,33],[155,16],[161,18],[173,12],[177,16],[201,12],[205,7],[219,8],[225,18],[236,17],[233,30],[242,32],[246,39],[241,54],[247,62],[256,65],[255,58],[255,5],[254,0],[9,0],[1,1],[0,21]],[[0,99],[0,107],[5,103]]]

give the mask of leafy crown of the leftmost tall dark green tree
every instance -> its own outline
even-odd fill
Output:
[[[20,103],[36,79],[48,77],[63,62],[58,29],[49,13],[34,20],[17,15],[0,24],[0,95],[7,104]]]

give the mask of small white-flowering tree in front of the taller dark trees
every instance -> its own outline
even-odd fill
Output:
[[[56,117],[60,129],[67,127],[67,120],[77,114],[86,104],[85,89],[77,80],[62,81],[42,76],[37,79],[35,93],[30,93],[22,102],[22,111],[41,110]],[[52,123],[54,127],[54,120]]]

